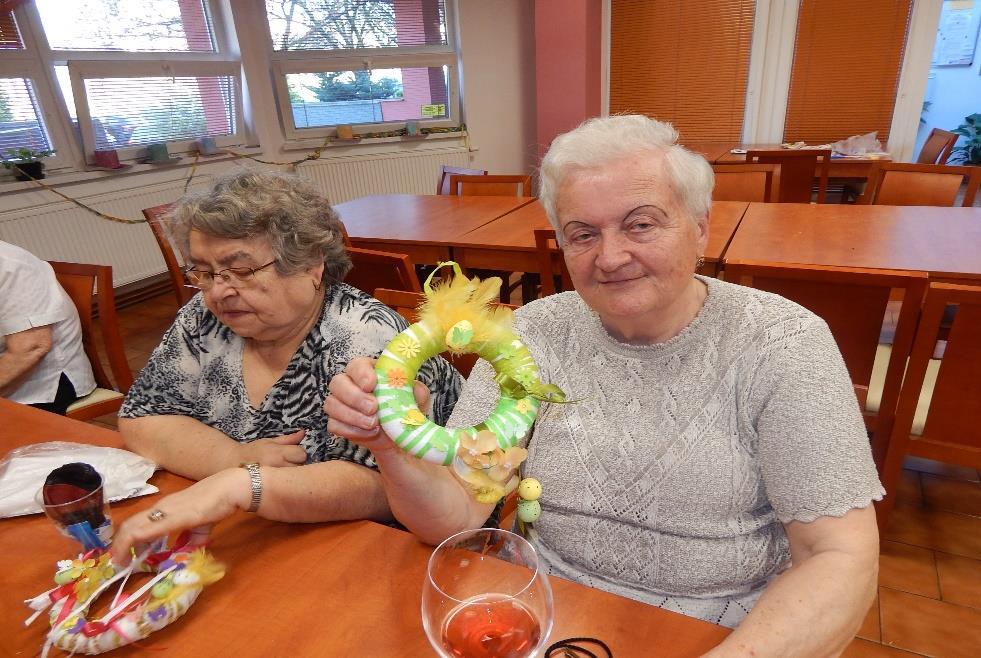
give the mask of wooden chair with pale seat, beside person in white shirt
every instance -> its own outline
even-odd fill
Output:
[[[122,406],[126,391],[133,385],[133,373],[130,372],[126,360],[123,339],[116,321],[112,267],[48,262],[58,278],[58,283],[78,309],[78,319],[82,325],[82,345],[85,348],[85,356],[92,364],[96,383],[96,389],[69,406],[66,415],[76,420],[89,420],[114,413]],[[93,288],[96,286],[98,286],[98,294],[93,295]],[[99,310],[97,321],[92,317],[93,308]],[[102,366],[99,341],[96,340],[96,322],[105,357],[109,362],[109,370],[112,372],[111,379]]]

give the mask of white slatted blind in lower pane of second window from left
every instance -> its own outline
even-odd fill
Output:
[[[232,76],[85,78],[96,149],[235,132]]]

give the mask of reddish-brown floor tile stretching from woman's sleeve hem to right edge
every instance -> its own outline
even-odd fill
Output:
[[[883,539],[981,559],[981,518],[896,505]]]

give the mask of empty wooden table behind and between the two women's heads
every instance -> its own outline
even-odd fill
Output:
[[[450,260],[454,241],[530,197],[379,194],[334,206],[355,247],[408,254],[415,264]]]

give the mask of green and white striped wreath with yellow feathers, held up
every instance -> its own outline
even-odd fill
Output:
[[[431,286],[433,274],[452,267],[453,278]],[[491,306],[501,280],[468,279],[454,262],[440,263],[424,286],[419,321],[392,339],[375,364],[378,414],[396,445],[420,459],[451,466],[480,502],[494,503],[518,486],[527,456],[518,447],[540,402],[565,394],[541,381],[531,353],[511,328],[511,309]],[[419,367],[440,352],[477,354],[497,373],[501,397],[483,422],[462,428],[436,425],[416,405],[412,384]]]

